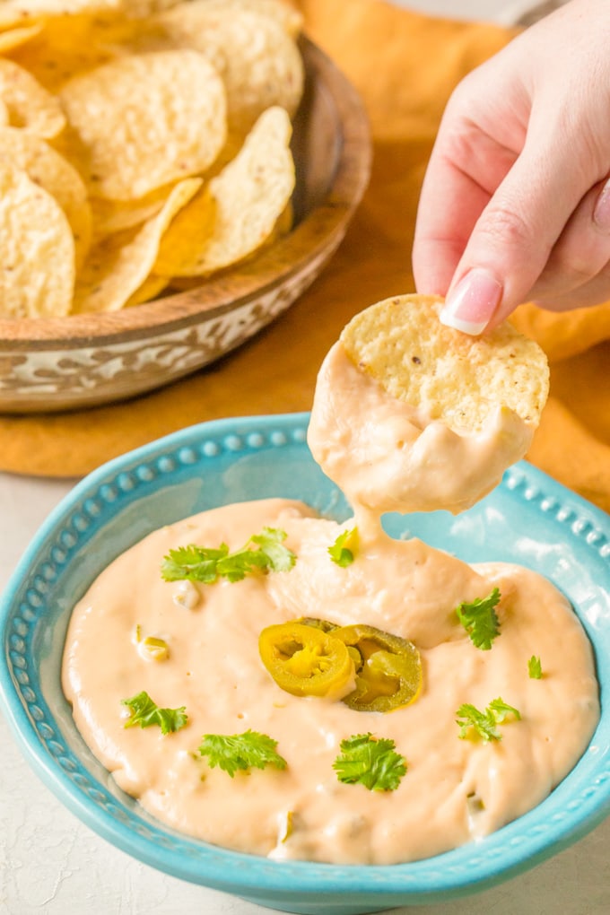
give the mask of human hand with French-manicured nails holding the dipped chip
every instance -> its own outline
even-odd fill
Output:
[[[572,0],[462,81],[419,203],[413,272],[478,334],[521,302],[610,298],[610,3]]]

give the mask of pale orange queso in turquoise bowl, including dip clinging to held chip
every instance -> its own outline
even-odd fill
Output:
[[[512,443],[507,458],[529,430],[496,417],[478,439],[456,442],[437,429],[418,465],[414,452],[430,425],[421,416],[398,416],[397,402],[387,403],[340,351],[330,358],[327,390],[343,384],[350,393],[347,400],[338,394],[337,401],[320,400],[326,364],[310,441],[354,505],[355,561],[340,567],[327,552],[354,520],[338,525],[296,501],[230,505],[168,525],[119,556],[74,609],[63,688],[81,734],[118,784],[177,830],[277,859],[391,864],[463,845],[542,801],[593,734],[598,686],[580,622],[546,579],[517,565],[466,565],[418,539],[392,540],[380,527],[380,511],[394,506],[392,493],[407,473],[383,469],[394,460],[387,457],[391,443],[394,450],[401,443],[407,476],[413,472],[418,480],[414,488],[403,483],[396,497],[401,510],[421,510],[422,501],[441,507],[431,504],[431,493],[440,491],[451,502],[444,507],[458,511],[462,501],[478,498],[479,469],[491,462],[488,481],[504,469],[496,463],[498,442]],[[384,430],[388,439],[380,445]],[[361,470],[368,460],[373,469]],[[457,474],[455,460],[464,462]],[[482,489],[487,485],[493,482]],[[287,534],[285,544],[296,554],[290,571],[214,585],[160,575],[170,549],[224,542],[232,550],[263,527]],[[481,651],[455,608],[494,587],[501,593],[500,634],[490,651]],[[421,693],[411,705],[381,714],[284,692],[262,664],[259,634],[300,617],[365,623],[411,640],[422,657]],[[164,660],[142,651],[151,636],[166,642]],[[539,680],[529,676],[532,655],[541,659]],[[122,701],[142,691],[162,707],[185,706],[187,726],[165,736],[159,727],[125,728],[130,713]],[[519,709],[520,720],[500,726],[498,741],[460,739],[459,706],[485,709],[498,697]],[[278,741],[285,770],[238,771],[231,779],[198,754],[204,734],[249,728]],[[337,780],[341,740],[369,732],[394,740],[407,760],[395,791]]]

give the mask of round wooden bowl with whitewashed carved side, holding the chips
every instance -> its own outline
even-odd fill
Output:
[[[0,412],[107,404],[176,381],[240,346],[314,281],[367,186],[371,146],[358,93],[307,38],[301,49],[293,230],[187,292],[113,313],[0,319]]]

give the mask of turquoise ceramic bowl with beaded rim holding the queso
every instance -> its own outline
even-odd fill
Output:
[[[610,518],[522,462],[474,509],[390,515],[469,562],[529,565],[572,600],[594,644],[602,718],[583,758],[535,810],[483,841],[390,867],[273,862],[177,834],[113,784],[86,748],[59,684],[70,609],[104,565],[167,522],[229,501],[348,506],[305,443],[307,414],[198,425],[117,458],[61,502],[0,604],[0,697],[27,760],[59,800],[113,845],[175,877],[273,909],[356,915],[490,888],[571,845],[610,813]]]

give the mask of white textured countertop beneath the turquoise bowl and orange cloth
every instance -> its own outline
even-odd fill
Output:
[[[433,15],[508,23],[534,0],[403,0]],[[72,482],[0,473],[0,590]],[[260,906],[167,877],[93,834],[37,779],[0,716],[0,915],[262,915]],[[496,889],[404,915],[605,915],[610,819]]]

